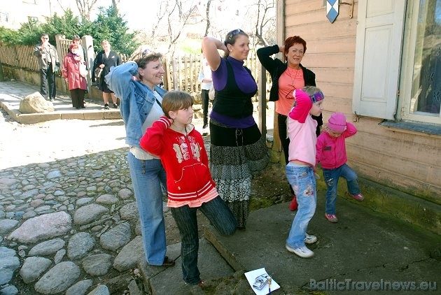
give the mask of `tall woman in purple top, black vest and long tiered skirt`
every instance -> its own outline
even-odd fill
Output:
[[[225,51],[221,58],[218,50]],[[265,140],[253,118],[257,85],[244,66],[248,35],[230,31],[225,41],[204,37],[202,51],[213,71],[215,103],[210,114],[210,170],[222,199],[244,229],[249,212],[251,176],[267,166]]]

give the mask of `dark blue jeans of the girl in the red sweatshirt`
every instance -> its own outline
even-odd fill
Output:
[[[201,210],[210,223],[224,236],[235,233],[237,227],[235,216],[221,199],[221,196],[216,196],[215,199],[202,203],[200,207],[190,208],[186,205],[170,208],[181,234],[183,280],[190,285],[196,285],[201,280],[199,268],[197,268],[197,252],[199,250],[197,209]]]

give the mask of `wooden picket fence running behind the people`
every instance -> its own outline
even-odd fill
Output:
[[[60,62],[66,55],[70,39],[57,38],[57,51]],[[127,62],[130,58],[128,55],[120,55],[121,61]],[[88,61],[92,66],[94,57],[89,57]],[[165,55],[163,58],[163,66],[165,69],[164,84],[165,89],[183,90],[187,92],[200,93],[201,85],[197,80],[201,66],[202,55]],[[7,66],[13,66],[19,69],[38,72],[38,62],[34,57],[34,46],[32,45],[4,45],[0,41],[0,62]],[[258,82],[260,77],[260,63],[255,52],[250,52],[245,65],[251,70],[253,76]],[[270,77],[267,74],[267,81]]]

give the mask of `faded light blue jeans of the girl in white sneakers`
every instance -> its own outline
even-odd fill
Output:
[[[314,177],[314,169],[311,166],[300,166],[292,163],[286,165],[286,178],[293,187],[299,204],[286,239],[286,244],[296,249],[304,246],[304,237],[306,236],[309,220],[316,212],[316,178]]]

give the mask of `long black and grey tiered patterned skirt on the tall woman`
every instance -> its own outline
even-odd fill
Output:
[[[239,228],[246,226],[253,172],[269,162],[265,138],[257,124],[245,129],[226,127],[210,120],[210,170],[222,199],[235,215]]]

